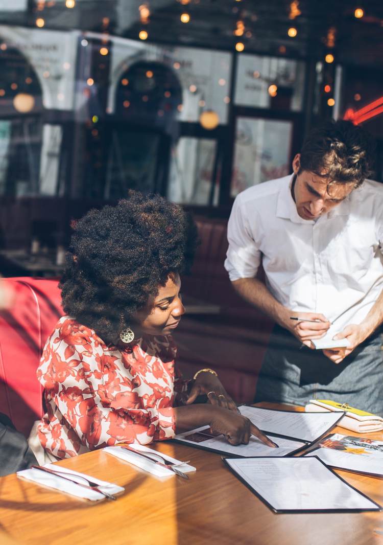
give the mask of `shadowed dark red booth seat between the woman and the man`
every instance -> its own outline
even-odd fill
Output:
[[[186,307],[194,307],[175,332],[178,362],[184,374],[211,367],[238,403],[254,399],[258,374],[273,321],[243,301],[234,292],[224,267],[227,251],[227,221],[196,219],[201,245],[190,276],[182,278]],[[263,278],[261,268],[258,274]],[[190,300],[190,299],[189,299]],[[195,300],[201,305],[196,308]],[[217,305],[209,314],[203,306]]]

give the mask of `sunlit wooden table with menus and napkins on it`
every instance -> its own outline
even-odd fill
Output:
[[[351,434],[342,428],[334,431]],[[369,437],[383,440],[383,433]],[[15,475],[2,477],[0,523],[5,537],[2,541],[0,535],[0,543],[8,538],[39,545],[383,545],[383,513],[274,514],[224,467],[219,455],[173,443],[156,448],[190,459],[196,473],[189,481],[159,480],[102,451],[59,462],[125,487],[117,501],[96,504]],[[339,474],[383,505],[383,480]]]

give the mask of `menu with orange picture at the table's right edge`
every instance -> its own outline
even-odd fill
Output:
[[[332,433],[306,456],[317,456],[335,469],[383,478],[383,441]]]

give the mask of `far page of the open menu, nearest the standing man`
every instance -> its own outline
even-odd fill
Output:
[[[336,424],[344,413],[296,413],[240,405],[239,411],[267,435],[283,435],[312,443]],[[278,440],[276,443],[279,444]]]

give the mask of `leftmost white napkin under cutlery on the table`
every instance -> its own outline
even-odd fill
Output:
[[[97,485],[100,485],[101,490],[104,490],[109,494],[118,494],[119,492],[123,492],[125,490],[125,488],[122,486],[115,485],[112,482],[101,481],[100,479],[96,479],[96,477],[92,477],[86,473],[72,471],[71,469],[63,468],[55,464],[45,464],[44,467],[52,469],[53,471],[60,471],[60,473],[65,474],[63,475],[64,477],[67,475],[69,479],[73,480],[76,480],[76,475],[86,477],[87,479],[96,482]],[[85,498],[91,501],[102,500],[105,498],[103,494],[96,492],[96,490],[90,490],[82,486],[77,486],[75,483],[71,483],[65,479],[60,479],[58,475],[55,476],[51,473],[40,471],[39,469],[30,468],[24,469],[23,471],[17,471],[17,476],[23,477],[23,479],[27,479],[28,481],[38,483],[38,485],[44,485],[49,488],[60,490],[61,492],[66,492],[67,494],[72,494],[72,496],[77,496],[78,498]],[[78,482],[82,483],[83,485],[88,484],[84,479],[78,479]]]

